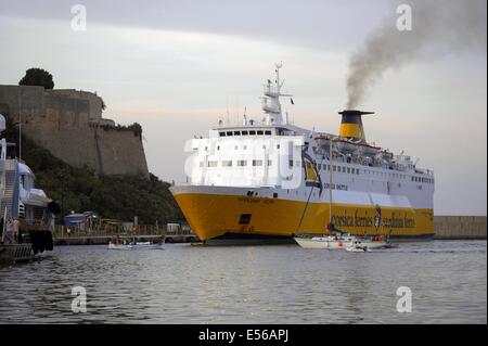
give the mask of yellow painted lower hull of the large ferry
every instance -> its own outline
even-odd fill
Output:
[[[295,193],[295,190],[290,190],[291,197]],[[329,222],[328,203],[309,203],[300,223],[305,202],[191,193],[177,194],[175,198],[201,240],[224,233],[324,234]],[[382,226],[378,229],[374,227],[374,206],[334,204],[332,215],[338,229],[351,233],[411,236],[434,233],[433,209],[382,207],[381,212]],[[242,214],[252,214],[249,225],[239,225]]]

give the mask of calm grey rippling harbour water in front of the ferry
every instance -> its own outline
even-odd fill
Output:
[[[0,322],[487,323],[486,241],[372,253],[296,245],[108,251],[60,246],[0,267]],[[87,312],[72,311],[72,287]],[[397,289],[412,312],[397,311]]]

